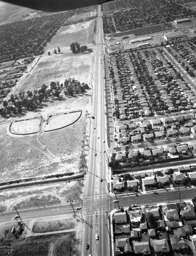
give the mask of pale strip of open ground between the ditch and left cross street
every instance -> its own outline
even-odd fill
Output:
[[[0,212],[13,210],[14,206],[24,209],[65,204],[69,198],[79,199],[82,189],[82,181],[71,181],[1,190]]]

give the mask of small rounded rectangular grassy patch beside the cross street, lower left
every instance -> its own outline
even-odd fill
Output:
[[[61,220],[61,221],[42,221],[35,222],[33,225],[32,231],[35,233],[46,233],[54,232],[59,230],[66,230],[75,228],[75,223],[70,220]]]

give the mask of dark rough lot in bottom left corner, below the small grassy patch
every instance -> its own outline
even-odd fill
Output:
[[[74,256],[80,255],[77,249],[76,232],[50,234],[47,236],[26,238],[26,231],[14,237],[13,224],[0,227],[1,256]]]

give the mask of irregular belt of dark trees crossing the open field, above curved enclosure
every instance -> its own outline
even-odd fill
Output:
[[[74,94],[84,94],[88,89],[87,83],[80,83],[75,78],[66,79],[64,84],[60,84],[58,81],[52,81],[50,88],[43,84],[39,90],[12,94],[9,100],[3,101],[4,109],[0,110],[0,114],[3,117],[17,114],[21,115],[23,112],[33,111],[39,108],[44,100],[47,101],[51,97],[63,97],[61,95],[62,93],[70,96],[74,96]]]

